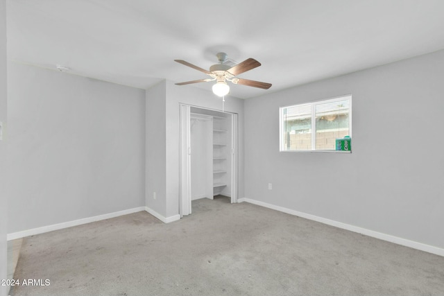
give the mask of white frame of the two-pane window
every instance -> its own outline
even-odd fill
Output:
[[[327,100],[312,101],[309,103],[300,103],[296,105],[288,105],[279,108],[279,151],[280,152],[328,152],[328,153],[351,153],[352,151],[339,151],[339,150],[316,150],[316,105],[325,103],[334,103],[344,100],[350,101],[350,107],[348,110],[348,135],[352,137],[352,95],[347,94],[343,96],[337,96],[334,98],[328,98]],[[282,139],[282,129],[284,128],[284,119],[282,117],[282,110],[288,107],[298,105],[311,105],[311,150],[284,150],[284,141]]]

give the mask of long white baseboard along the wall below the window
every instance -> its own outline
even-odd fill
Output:
[[[250,204],[257,204],[261,207],[266,207],[268,209],[275,209],[276,211],[282,211],[284,213],[287,214],[291,214],[294,216],[298,216],[301,218],[306,218],[309,220],[314,220],[316,222],[320,222],[320,223],[324,223],[327,225],[331,225],[334,227],[338,227],[341,229],[345,229],[345,230],[349,230],[350,232],[357,232],[359,234],[364,234],[366,236],[371,236],[374,238],[379,238],[382,241],[389,241],[391,243],[396,243],[398,245],[404,245],[405,247],[411,247],[413,249],[416,250],[421,250],[424,252],[429,252],[432,254],[436,254],[439,256],[444,256],[444,249],[440,248],[440,247],[434,247],[432,245],[426,245],[424,243],[418,243],[416,241],[410,241],[408,239],[405,238],[400,238],[398,236],[392,236],[390,234],[383,234],[381,232],[375,232],[373,230],[370,229],[365,229],[365,228],[361,228],[361,227],[357,227],[357,226],[353,226],[353,225],[349,225],[349,224],[345,224],[345,223],[341,223],[335,220],[330,220],[327,218],[322,218],[322,217],[318,217],[318,216],[314,216],[311,214],[305,214],[302,213],[300,211],[294,211],[292,209],[287,209],[284,207],[279,207],[276,206],[274,204],[268,204],[266,202],[260,202],[258,200],[251,200],[250,198],[239,198],[239,200],[237,200],[237,202],[249,202]]]

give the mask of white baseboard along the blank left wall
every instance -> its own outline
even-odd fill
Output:
[[[64,223],[28,229],[28,230],[24,230],[22,232],[13,232],[12,234],[8,234],[7,239],[8,239],[8,241],[12,241],[13,239],[17,239],[17,238],[24,238],[26,236],[33,236],[35,234],[44,234],[45,232],[53,232],[54,230],[64,229],[64,228],[73,227],[73,226],[77,226],[77,225],[83,225],[83,224],[92,223],[92,222],[96,222],[96,221],[100,221],[100,220],[105,220],[105,219],[115,218],[115,217],[119,217],[119,216],[123,216],[123,215],[133,214],[133,213],[137,213],[138,211],[144,211],[144,210],[145,210],[145,207],[137,207],[134,209],[126,209],[123,211],[116,211],[114,213],[103,214],[103,215],[99,215],[99,216],[83,218],[83,219],[64,222]]]

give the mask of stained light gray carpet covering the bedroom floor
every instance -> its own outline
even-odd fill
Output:
[[[444,295],[444,257],[227,198],[24,239],[11,295]]]

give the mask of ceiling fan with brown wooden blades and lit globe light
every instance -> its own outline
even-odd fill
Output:
[[[235,85],[246,85],[248,87],[258,87],[261,89],[269,89],[271,87],[271,83],[234,77],[246,71],[250,71],[251,69],[259,67],[261,63],[257,62],[257,60],[249,58],[247,60],[244,60],[244,62],[235,65],[234,67],[230,67],[227,64],[223,64],[223,62],[225,62],[225,60],[227,59],[226,53],[217,53],[216,57],[219,60],[219,64],[212,65],[212,67],[210,67],[210,71],[197,67],[194,64],[190,64],[189,62],[185,62],[185,60],[174,60],[176,62],[179,62],[180,64],[185,64],[185,66],[203,72],[211,77],[207,79],[180,82],[176,83],[176,85],[190,85],[191,83],[210,82],[216,80],[216,83],[212,87],[213,92],[214,94],[216,94],[216,96],[225,96],[226,94],[228,94],[228,92],[230,92],[230,86],[228,86],[227,81],[230,81]]]

